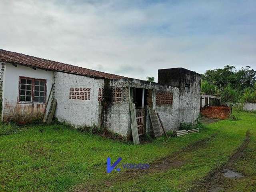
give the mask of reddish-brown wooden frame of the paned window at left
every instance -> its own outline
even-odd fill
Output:
[[[26,96],[25,96],[25,101],[21,101],[20,100],[20,85],[21,85],[21,80],[22,79],[30,79],[32,80],[32,84],[31,84],[31,101],[27,101],[26,102]],[[35,92],[35,81],[38,80],[38,81],[44,81],[44,102],[40,102],[38,100],[37,101],[34,101],[34,92]],[[40,90],[39,90],[39,94],[40,94]],[[18,102],[19,103],[24,103],[24,104],[31,104],[31,103],[36,103],[36,104],[45,104],[46,102],[46,94],[47,94],[47,80],[46,79],[37,79],[37,78],[30,78],[30,77],[24,77],[24,76],[19,76],[19,89],[18,89]]]

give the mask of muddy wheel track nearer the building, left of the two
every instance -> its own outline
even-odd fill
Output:
[[[187,153],[190,153],[192,150],[197,150],[200,148],[204,148],[206,144],[212,140],[213,138],[216,138],[217,134],[212,134],[210,137],[205,138],[203,140],[199,140],[186,148],[183,148],[182,150],[172,153],[169,156],[166,156],[164,158],[158,159],[152,164],[150,164],[150,168],[143,169],[143,170],[128,170],[125,172],[122,172],[118,174],[115,178],[111,180],[104,181],[104,184],[94,184],[94,185],[88,185],[86,188],[81,190],[76,190],[76,192],[94,192],[94,191],[104,191],[104,188],[108,188],[109,186],[112,186],[112,184],[116,182],[128,182],[129,180],[140,178],[143,175],[154,173],[154,172],[164,172],[170,168],[178,168],[184,165],[187,162],[187,159],[185,158]]]

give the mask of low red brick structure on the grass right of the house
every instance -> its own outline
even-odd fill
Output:
[[[212,119],[227,119],[231,114],[230,107],[208,106],[200,109],[202,116]]]

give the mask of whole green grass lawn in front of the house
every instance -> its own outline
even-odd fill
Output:
[[[160,138],[138,146],[82,134],[58,124],[26,127],[0,136],[0,191],[186,191],[225,164],[242,144],[248,129],[248,149],[234,164],[246,178],[231,182],[230,188],[250,191],[256,179],[256,114],[234,113],[240,120],[216,122],[199,134]],[[201,146],[184,150],[204,139]],[[112,161],[122,157],[122,162],[152,163],[166,156],[181,163],[133,177],[123,170],[106,173],[107,157]]]

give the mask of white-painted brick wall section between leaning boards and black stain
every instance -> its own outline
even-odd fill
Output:
[[[56,72],[54,95],[57,99],[56,118],[74,126],[100,125],[100,109],[98,88],[104,85],[104,80],[86,76]],[[70,87],[91,88],[90,100],[75,100],[69,98]]]

